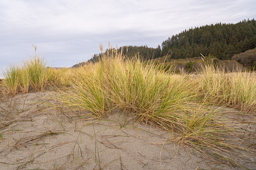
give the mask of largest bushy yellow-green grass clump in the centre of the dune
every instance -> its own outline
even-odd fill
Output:
[[[195,97],[188,77],[166,73],[136,57],[127,59],[122,52],[110,52],[100,62],[74,73],[70,81],[73,88],[62,98],[68,107],[98,116],[120,107],[138,120],[165,126],[161,121],[172,122],[177,116],[170,112],[182,111]]]

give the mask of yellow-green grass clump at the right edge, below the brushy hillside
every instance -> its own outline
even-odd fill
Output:
[[[226,72],[218,65],[206,64],[199,71],[199,93],[212,104],[221,103],[242,111],[256,111],[256,75],[237,69]]]

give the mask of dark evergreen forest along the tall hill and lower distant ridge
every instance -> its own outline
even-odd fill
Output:
[[[129,56],[138,54],[142,59],[155,59],[168,56],[167,59],[185,59],[210,55],[218,60],[236,60],[244,66],[253,66],[255,57],[241,55],[239,59],[233,55],[256,47],[256,22],[244,19],[236,24],[217,23],[205,25],[180,32],[163,41],[161,46],[150,48],[144,46],[127,46],[123,53]],[[121,47],[118,49],[120,52]],[[95,54],[88,62],[97,62],[102,54]],[[241,58],[242,57],[242,58]],[[84,62],[85,63],[85,62]],[[78,65],[83,65],[79,63]]]

